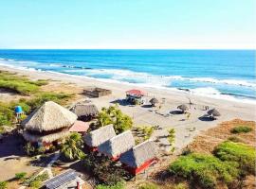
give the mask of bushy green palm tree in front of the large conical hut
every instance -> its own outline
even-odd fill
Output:
[[[61,152],[68,160],[81,160],[85,156],[82,152],[82,145],[82,135],[75,132],[65,140]]]

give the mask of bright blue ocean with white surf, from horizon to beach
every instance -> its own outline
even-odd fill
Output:
[[[254,50],[0,50],[0,63],[194,94],[256,99]]]

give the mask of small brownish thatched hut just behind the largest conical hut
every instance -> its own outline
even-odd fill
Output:
[[[70,111],[74,112],[78,116],[78,119],[82,121],[90,121],[99,113],[97,107],[88,102],[78,103]]]

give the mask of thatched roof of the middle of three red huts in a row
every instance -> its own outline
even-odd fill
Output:
[[[98,150],[110,158],[115,158],[133,146],[135,146],[135,139],[132,131],[127,130],[101,144]]]

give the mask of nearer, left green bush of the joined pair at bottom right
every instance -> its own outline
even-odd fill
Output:
[[[179,157],[169,167],[176,177],[183,177],[203,188],[214,188],[218,181],[229,184],[238,175],[231,163],[224,163],[212,155],[192,153]]]

